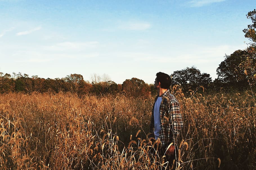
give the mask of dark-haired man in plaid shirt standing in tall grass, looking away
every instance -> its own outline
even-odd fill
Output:
[[[156,73],[154,88],[158,92],[152,108],[150,131],[155,139],[160,138],[160,156],[166,155],[170,162],[176,159],[177,138],[183,127],[178,100],[170,93],[171,78],[165,73]],[[168,148],[168,146],[172,145]],[[176,147],[175,147],[176,146]],[[178,158],[177,158],[178,159]]]

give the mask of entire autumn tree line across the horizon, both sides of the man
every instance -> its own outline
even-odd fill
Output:
[[[174,71],[172,86],[178,85],[183,93],[189,91],[217,92],[221,88],[227,90],[243,91],[255,88],[256,85],[256,10],[249,11],[246,15],[252,21],[243,30],[245,37],[250,40],[248,47],[244,50],[236,50],[230,55],[224,56],[224,61],[217,68],[218,77],[212,80],[210,74],[201,73],[196,67],[186,67],[182,70]],[[203,87],[203,88],[199,88]],[[203,90],[202,90],[203,89]],[[210,90],[209,90],[210,89]],[[0,93],[8,92],[72,92],[83,94],[117,94],[123,93],[127,96],[140,97],[150,93],[155,94],[153,84],[147,84],[138,78],[126,79],[122,84],[116,84],[104,74],[102,77],[94,74],[92,81],[85,81],[81,74],[70,74],[65,78],[39,78],[29,77],[28,74],[13,73],[3,74],[0,72]],[[198,90],[200,92],[200,90]]]

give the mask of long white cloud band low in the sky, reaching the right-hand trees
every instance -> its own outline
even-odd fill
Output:
[[[193,51],[172,53],[172,51],[165,52],[164,55],[157,53],[147,53],[147,52],[121,52],[112,53],[112,56],[120,57],[123,59],[128,59],[131,62],[153,62],[153,63],[175,63],[175,64],[212,64],[218,63],[224,60],[225,54],[230,55],[235,50],[245,49],[246,45],[242,46],[230,46],[230,45],[220,45],[214,47],[195,47]],[[187,66],[187,65],[186,65]],[[217,68],[217,67],[216,67]]]

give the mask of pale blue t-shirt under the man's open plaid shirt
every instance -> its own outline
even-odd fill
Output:
[[[154,106],[154,134],[155,138],[159,138],[159,131],[161,129],[161,119],[160,119],[160,104],[162,102],[162,97],[158,97]]]

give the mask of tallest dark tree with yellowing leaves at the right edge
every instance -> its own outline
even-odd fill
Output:
[[[217,68],[218,82],[240,90],[248,88],[248,80],[251,84],[256,84],[256,10],[248,12],[246,16],[251,19],[252,24],[243,32],[252,43],[245,50],[225,55],[224,61]]]

